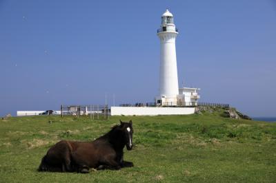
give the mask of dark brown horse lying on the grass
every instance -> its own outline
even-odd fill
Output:
[[[121,122],[121,120],[120,120]],[[121,122],[92,142],[61,140],[42,158],[39,171],[81,172],[94,169],[121,169],[133,166],[124,161],[124,147],[131,150],[132,121]]]

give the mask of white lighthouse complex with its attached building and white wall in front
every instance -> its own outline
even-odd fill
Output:
[[[173,15],[166,10],[161,16],[161,26],[157,30],[160,39],[159,94],[155,103],[146,105],[121,105],[111,107],[111,115],[184,115],[194,114],[199,96],[199,88],[179,88],[177,76],[177,54],[175,39],[178,31],[175,28]],[[183,69],[181,69],[183,70]]]

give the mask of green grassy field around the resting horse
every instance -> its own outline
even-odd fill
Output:
[[[276,123],[220,115],[217,111],[109,120],[72,116],[0,120],[0,182],[276,182]],[[137,147],[125,151],[133,168],[88,174],[37,172],[55,142],[93,140],[119,119],[133,122]]]

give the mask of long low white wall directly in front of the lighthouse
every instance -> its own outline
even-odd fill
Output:
[[[157,116],[194,113],[195,107],[111,107],[111,116]]]

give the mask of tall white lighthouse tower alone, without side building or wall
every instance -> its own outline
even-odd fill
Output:
[[[177,34],[177,28],[173,23],[173,15],[166,10],[161,17],[161,28],[157,30],[161,47],[159,96],[156,98],[159,105],[177,105],[177,96],[179,95],[175,50]]]

